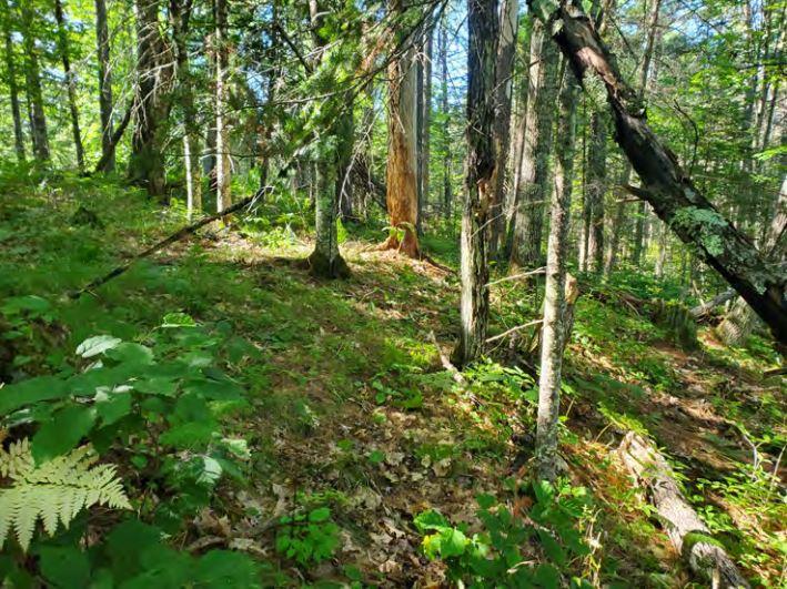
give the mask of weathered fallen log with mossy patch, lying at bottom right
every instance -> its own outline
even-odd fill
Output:
[[[748,588],[720,542],[684,498],[673,469],[653,443],[629,431],[618,451],[637,483],[647,489],[664,531],[692,571],[710,581],[714,589]]]

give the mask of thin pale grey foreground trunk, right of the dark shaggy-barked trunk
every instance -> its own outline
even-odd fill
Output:
[[[574,134],[577,88],[565,68],[557,114],[557,153],[555,189],[552,194],[549,241],[544,290],[541,373],[538,377],[538,416],[536,428],[536,467],[538,477],[557,478],[557,423],[561,408],[561,369],[566,334],[566,258],[571,220],[574,166]]]

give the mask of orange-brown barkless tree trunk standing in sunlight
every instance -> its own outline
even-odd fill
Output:
[[[402,10],[400,0],[395,10]],[[389,65],[389,160],[385,201],[391,235],[383,248],[418,257],[417,63],[414,43]],[[400,236],[403,238],[400,240]]]

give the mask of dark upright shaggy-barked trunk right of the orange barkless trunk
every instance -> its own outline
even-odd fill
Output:
[[[490,314],[488,232],[495,173],[495,63],[497,2],[468,1],[467,176],[462,213],[462,331],[454,364],[477,359],[486,341]]]

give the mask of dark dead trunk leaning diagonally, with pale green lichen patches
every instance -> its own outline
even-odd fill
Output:
[[[533,0],[529,3],[533,7]],[[577,77],[589,71],[603,81],[615,120],[616,141],[643,181],[642,197],[746,299],[780,345],[787,346],[784,273],[769,267],[749,238],[684,174],[675,155],[650,130],[642,101],[620,77],[582,7],[566,0],[537,7],[538,18],[553,23],[553,40]]]

